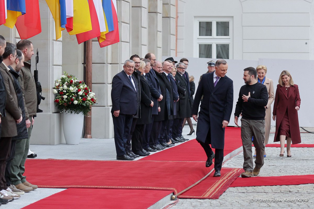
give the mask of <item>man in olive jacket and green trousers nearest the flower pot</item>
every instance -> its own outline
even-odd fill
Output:
[[[20,40],[16,44],[17,48],[24,54],[24,67],[21,68],[18,78],[19,84],[23,91],[25,100],[25,119],[28,138],[19,140],[16,143],[15,157],[11,162],[11,181],[17,189],[29,192],[38,188],[37,185],[32,185],[23,176],[25,171],[25,160],[27,158],[28,149],[30,147],[30,135],[34,124],[34,116],[37,110],[37,93],[35,80],[30,70],[30,59],[34,54],[32,42],[27,39]]]

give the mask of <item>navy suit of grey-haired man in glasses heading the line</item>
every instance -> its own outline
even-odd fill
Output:
[[[138,89],[135,90],[132,82],[129,80],[124,71],[121,71],[113,77],[111,90],[111,113],[117,156],[126,154],[125,146],[127,137],[130,133],[133,115],[137,112],[137,91]],[[120,110],[118,117],[113,115],[113,112],[116,110]]]

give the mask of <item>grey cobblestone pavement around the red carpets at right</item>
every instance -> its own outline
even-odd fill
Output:
[[[313,130],[309,130],[313,131]],[[274,134],[269,137],[269,144]],[[314,134],[301,133],[302,144],[314,144]],[[254,149],[254,148],[253,148]],[[254,150],[252,151],[254,152]],[[280,148],[266,148],[264,166],[259,176],[314,174],[313,148],[291,148],[291,158],[279,157]],[[234,156],[223,167],[242,168],[243,153]],[[302,199],[303,198],[303,199]],[[173,209],[190,208],[314,208],[314,184],[283,186],[230,187],[217,200],[179,199]]]

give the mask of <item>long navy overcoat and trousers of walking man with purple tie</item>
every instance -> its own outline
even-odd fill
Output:
[[[224,120],[230,121],[233,105],[233,81],[227,76],[221,77],[214,87],[214,72],[203,74],[198,85],[192,114],[199,115],[196,129],[196,140],[202,145],[207,157],[212,150],[208,144],[215,148],[215,170],[221,170],[224,158],[225,128]],[[201,109],[198,106],[203,96]]]

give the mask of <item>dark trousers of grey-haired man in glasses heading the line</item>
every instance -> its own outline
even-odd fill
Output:
[[[115,137],[116,153],[117,156],[126,154],[125,147],[127,143],[127,137],[130,133],[132,126],[132,115],[119,114],[118,117],[115,117],[112,114],[113,121],[113,131]]]

